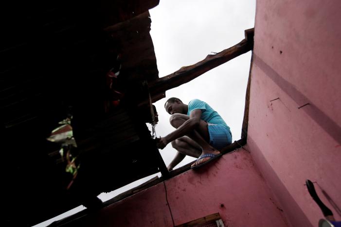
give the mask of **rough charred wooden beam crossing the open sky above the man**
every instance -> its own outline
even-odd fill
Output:
[[[246,30],[246,38],[233,47],[225,49],[217,54],[209,54],[204,60],[194,65],[181,67],[178,71],[162,77],[156,82],[150,84],[149,89],[151,95],[155,96],[157,94],[161,94],[169,89],[192,81],[216,66],[222,65],[231,59],[250,51],[253,49],[253,32],[253,29]]]

